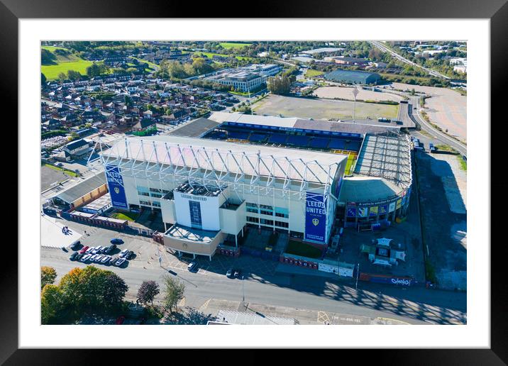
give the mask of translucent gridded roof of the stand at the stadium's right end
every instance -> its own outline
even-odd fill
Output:
[[[366,135],[355,174],[382,177],[399,187],[409,187],[412,182],[409,137],[393,133]]]

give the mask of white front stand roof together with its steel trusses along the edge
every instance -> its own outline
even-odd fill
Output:
[[[156,140],[125,139],[102,151],[104,165],[117,165],[136,179],[162,181],[170,177],[175,184],[189,182],[203,187],[225,188],[234,192],[297,195],[307,190],[331,194],[339,162],[323,164],[298,157],[262,155],[245,151],[219,150]],[[238,196],[240,197],[240,196]]]

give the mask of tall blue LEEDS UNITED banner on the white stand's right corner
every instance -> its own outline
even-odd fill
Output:
[[[307,192],[305,240],[326,243],[326,200],[328,196]]]

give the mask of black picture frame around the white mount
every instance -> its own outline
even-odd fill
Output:
[[[11,118],[17,118],[18,96],[18,20],[21,18],[192,18],[229,17],[270,17],[270,18],[485,18],[490,19],[491,56],[491,110],[494,118],[495,106],[502,106],[502,89],[508,80],[506,60],[508,57],[508,4],[507,0],[488,1],[338,1],[318,0],[308,2],[297,0],[289,4],[263,1],[249,11],[240,11],[238,3],[221,2],[216,9],[189,9],[185,2],[164,2],[142,0],[74,1],[74,0],[0,0],[0,45],[4,57],[0,58],[1,96],[6,109],[13,111]],[[236,11],[233,11],[236,9]],[[240,15],[241,14],[241,15]],[[6,57],[6,55],[9,55]],[[494,121],[494,119],[492,119]],[[499,121],[501,122],[501,121]],[[506,123],[506,117],[501,123]],[[492,126],[492,125],[491,125]],[[22,133],[22,131],[19,131]],[[21,136],[20,136],[21,137]],[[492,146],[497,145],[492,135]],[[500,157],[492,153],[492,166]],[[18,169],[22,167],[18,166]],[[505,189],[502,181],[491,181],[491,192]],[[21,192],[18,192],[21,194]],[[492,214],[492,228],[502,227],[502,216]],[[490,238],[490,235],[486,235]],[[7,244],[7,243],[5,243]],[[487,243],[485,243],[487,245]],[[69,365],[90,364],[94,350],[20,350],[18,349],[18,253],[12,249],[11,260],[2,263],[0,291],[0,362],[6,365]],[[506,244],[491,246],[491,348],[483,350],[374,350],[362,351],[362,357],[375,360],[377,364],[404,365],[505,365],[508,362],[507,285],[503,275],[502,260],[507,254]],[[16,260],[14,260],[16,258]],[[6,301],[5,299],[9,299]],[[313,350],[311,352],[318,352]],[[346,357],[340,351],[341,358]],[[250,353],[250,352],[249,352]],[[156,355],[153,353],[153,355]],[[294,357],[296,356],[296,357]],[[126,356],[129,357],[129,356]],[[154,358],[157,356],[153,356]],[[249,357],[245,353],[243,357]],[[287,361],[299,359],[299,353],[287,355]],[[324,357],[329,357],[328,355]],[[335,357],[335,356],[333,356]],[[358,355],[356,362],[359,362]],[[258,357],[254,357],[257,359]],[[155,359],[154,359],[155,361]],[[175,362],[176,360],[173,359]]]

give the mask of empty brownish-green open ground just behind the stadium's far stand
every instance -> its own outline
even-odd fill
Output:
[[[270,95],[253,104],[258,115],[284,116],[313,119],[353,119],[353,101],[294,98]],[[356,103],[355,118],[397,118],[399,106],[390,104]]]

